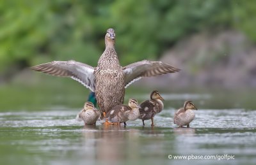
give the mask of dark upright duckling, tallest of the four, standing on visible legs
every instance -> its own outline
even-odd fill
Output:
[[[151,126],[154,126],[154,116],[160,113],[163,108],[163,97],[160,96],[157,90],[153,90],[150,94],[150,100],[143,101],[140,104],[140,119],[142,120],[143,126],[145,126],[144,120],[149,120],[151,118]]]

